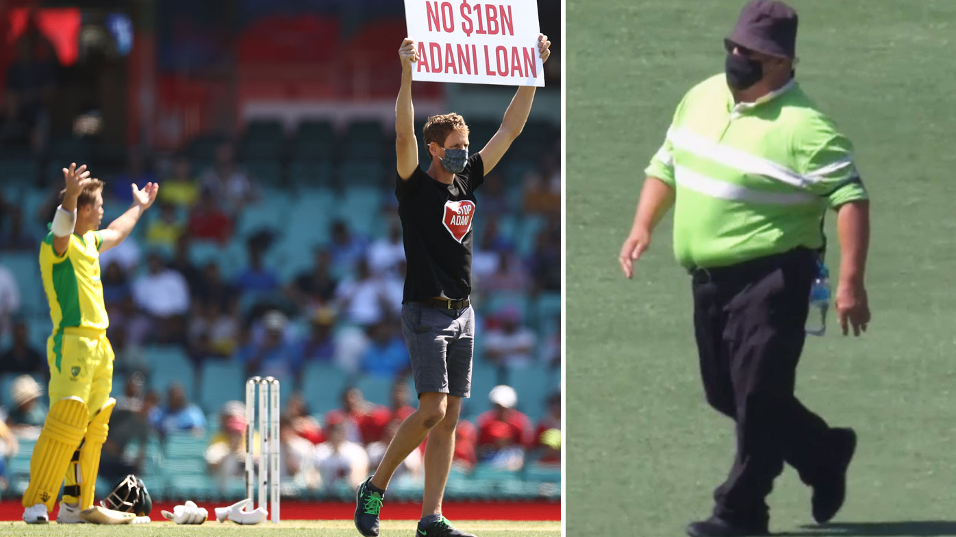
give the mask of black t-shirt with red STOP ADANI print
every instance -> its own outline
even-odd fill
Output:
[[[471,294],[471,223],[474,191],[485,182],[485,163],[477,153],[451,184],[416,168],[407,181],[396,175],[402,241],[407,269],[403,302],[442,296],[462,300]]]

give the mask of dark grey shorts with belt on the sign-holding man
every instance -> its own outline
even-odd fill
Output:
[[[412,360],[415,391],[468,397],[474,354],[475,312],[402,304],[402,335]]]

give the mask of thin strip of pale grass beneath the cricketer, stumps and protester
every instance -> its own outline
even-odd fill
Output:
[[[381,537],[399,537],[415,533],[417,521],[382,521]],[[554,537],[561,534],[561,525],[557,522],[511,522],[511,521],[455,521],[455,527],[479,535],[516,535],[518,537]],[[355,537],[359,535],[352,521],[343,520],[290,520],[272,525],[263,523],[256,526],[239,526],[232,523],[220,524],[213,520],[200,526],[177,526],[171,522],[151,522],[137,526],[93,526],[76,525],[36,525],[28,526],[22,522],[0,523],[0,535],[19,537],[31,535],[83,536],[97,537],[163,537],[175,535],[197,535],[214,537],[218,535],[275,535],[294,536],[311,535],[316,537]]]

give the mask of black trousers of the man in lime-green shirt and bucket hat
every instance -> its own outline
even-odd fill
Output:
[[[714,491],[714,514],[766,523],[784,462],[807,484],[829,466],[829,426],[793,395],[816,254],[799,248],[691,273],[706,399],[736,423],[737,453]]]

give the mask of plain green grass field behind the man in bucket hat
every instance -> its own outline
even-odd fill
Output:
[[[743,1],[568,0],[567,528],[683,535],[732,458],[706,406],[669,217],[636,279],[616,257],[684,91],[723,69]],[[793,1],[797,77],[857,146],[873,198],[864,337],[808,342],[798,395],[859,435],[829,528],[787,469],[771,529],[956,535],[956,1]],[[838,266],[833,218],[829,262]]]

